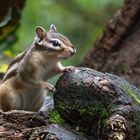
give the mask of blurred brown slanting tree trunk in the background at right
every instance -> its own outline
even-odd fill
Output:
[[[119,75],[140,87],[140,1],[125,0],[80,66]]]

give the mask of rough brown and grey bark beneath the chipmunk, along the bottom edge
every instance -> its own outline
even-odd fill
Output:
[[[39,113],[28,111],[0,112],[2,140],[87,140],[58,124],[51,124]]]

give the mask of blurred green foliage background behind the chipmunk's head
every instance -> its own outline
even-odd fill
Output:
[[[122,3],[123,0],[26,0],[17,41],[12,46],[4,45],[2,53],[15,56],[34,39],[37,25],[48,31],[53,23],[77,49],[75,56],[62,63],[78,65]]]

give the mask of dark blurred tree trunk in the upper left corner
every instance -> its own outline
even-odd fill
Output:
[[[0,40],[17,29],[24,3],[25,0],[0,0]]]

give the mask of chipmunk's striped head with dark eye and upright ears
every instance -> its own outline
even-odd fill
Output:
[[[35,43],[37,48],[46,56],[64,59],[76,53],[69,39],[57,32],[54,25],[50,26],[50,31],[46,32],[44,28],[36,27]]]

